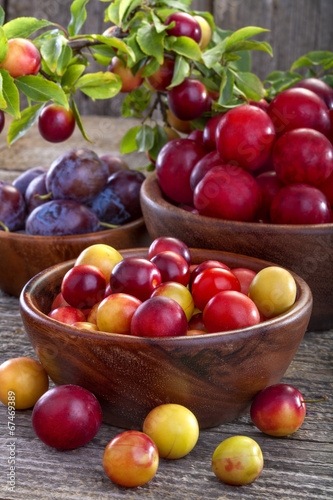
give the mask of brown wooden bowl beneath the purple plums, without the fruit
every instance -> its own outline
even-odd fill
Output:
[[[74,236],[31,236],[0,231],[0,288],[19,297],[22,288],[43,269],[75,259],[95,243],[105,243],[117,250],[147,245],[143,217],[116,229]]]

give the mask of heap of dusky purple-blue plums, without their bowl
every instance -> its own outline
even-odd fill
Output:
[[[113,155],[70,150],[48,169],[33,167],[0,181],[0,230],[31,235],[85,234],[141,217],[145,176]]]

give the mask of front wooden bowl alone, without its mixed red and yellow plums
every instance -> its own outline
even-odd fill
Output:
[[[213,250],[191,253],[193,263],[222,260],[254,271],[269,265]],[[147,249],[122,255],[146,257]],[[58,264],[27,283],[20,297],[22,320],[51,379],[92,391],[104,421],[118,427],[140,429],[152,408],[170,402],[192,410],[201,428],[239,417],[258,391],[282,378],[311,315],[311,291],[294,275],[298,295],[292,308],[247,329],[153,339],[80,330],[46,316],[72,265]]]

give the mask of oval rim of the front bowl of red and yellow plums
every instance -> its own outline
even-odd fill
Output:
[[[133,252],[136,252],[136,251],[137,252],[147,252],[148,247],[131,248],[131,249],[127,249],[127,250],[131,250]],[[273,266],[282,267],[283,269],[286,269],[283,266],[280,266],[278,264],[274,264],[274,263],[269,262],[269,261],[265,261],[263,259],[257,259],[255,257],[249,257],[247,255],[242,255],[242,254],[235,254],[232,252],[224,252],[222,250],[218,251],[218,250],[190,248],[190,251],[194,252],[194,253],[203,251],[203,252],[208,252],[208,253],[212,252],[214,254],[216,252],[218,252],[218,253],[221,253],[222,255],[223,254],[228,254],[230,256],[235,255],[235,256],[245,258],[246,260],[252,261],[252,262],[257,263],[257,264],[261,264],[261,265],[264,264],[264,267],[273,265]],[[278,325],[279,323],[281,323],[281,321],[289,322],[292,320],[293,316],[300,313],[306,305],[310,306],[311,310],[312,310],[312,306],[313,306],[312,292],[311,292],[310,287],[306,283],[306,281],[303,280],[303,278],[301,278],[299,275],[297,275],[293,271],[288,270],[296,281],[297,296],[296,296],[295,303],[291,306],[290,309],[288,309],[288,311],[286,311],[286,312],[284,312],[284,313],[282,313],[274,318],[270,318],[266,321],[260,322],[257,325],[252,325],[252,326],[249,326],[246,328],[240,328],[237,330],[230,330],[230,331],[226,331],[226,332],[203,333],[202,335],[194,335],[194,336],[183,335],[183,336],[171,336],[171,337],[138,337],[135,335],[103,332],[100,330],[96,330],[96,331],[84,330],[84,329],[80,329],[80,328],[77,328],[77,327],[72,326],[72,325],[61,323],[53,318],[48,317],[46,314],[44,314],[42,311],[40,311],[40,309],[38,309],[35,306],[35,304],[32,300],[32,297],[31,297],[31,291],[33,291],[35,287],[37,287],[38,285],[41,286],[41,285],[43,285],[44,282],[45,283],[47,282],[47,280],[45,279],[46,275],[48,275],[49,273],[55,272],[56,269],[59,269],[59,268],[65,268],[67,270],[67,268],[69,269],[70,267],[72,267],[74,265],[74,262],[75,262],[75,259],[72,259],[69,261],[61,262],[59,264],[55,264],[54,266],[51,266],[47,269],[44,269],[43,271],[38,273],[36,276],[31,278],[25,284],[25,286],[22,289],[22,292],[20,294],[20,299],[19,299],[20,310],[22,310],[22,309],[25,310],[27,312],[27,314],[33,318],[34,322],[39,322],[39,321],[43,321],[44,323],[45,323],[45,321],[49,322],[50,329],[52,329],[52,335],[56,335],[57,330],[61,329],[63,332],[66,333],[66,335],[74,335],[74,336],[81,337],[81,338],[89,338],[90,340],[92,338],[96,338],[96,340],[104,340],[104,341],[111,340],[111,339],[122,339],[122,342],[126,342],[126,343],[133,343],[134,342],[134,343],[139,343],[139,344],[141,344],[141,343],[146,344],[147,342],[151,342],[154,344],[160,344],[160,343],[161,344],[173,344],[174,342],[181,341],[181,342],[188,342],[190,345],[191,343],[196,343],[197,341],[200,341],[200,339],[203,339],[203,338],[204,339],[207,339],[207,338],[227,338],[227,337],[233,338],[236,335],[248,336],[252,332],[255,332],[258,329],[259,330],[260,329],[267,329],[271,325],[272,326]],[[52,326],[53,326],[53,328],[52,328]],[[64,328],[64,330],[63,330],[63,328]],[[67,329],[69,329],[69,331],[67,331]]]

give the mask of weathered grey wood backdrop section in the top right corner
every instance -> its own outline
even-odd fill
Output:
[[[253,70],[261,78],[276,69],[289,69],[312,50],[333,50],[331,0],[219,0],[214,2],[213,14],[224,29],[270,30],[258,39],[272,45],[273,59],[265,53],[253,55]]]

